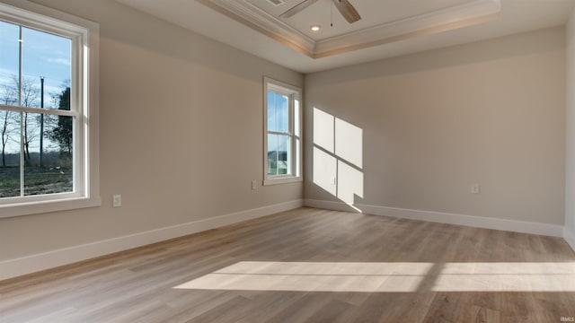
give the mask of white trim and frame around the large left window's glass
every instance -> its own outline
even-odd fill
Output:
[[[100,25],[68,13],[25,0],[1,0],[0,19],[72,38],[73,55],[71,100],[84,127],[75,127],[75,192],[3,198],[0,218],[41,214],[101,205],[98,146],[98,70]],[[79,58],[79,59],[78,59]],[[5,107],[4,107],[5,108]],[[35,112],[38,112],[37,110]],[[45,112],[45,111],[43,111]],[[63,115],[70,112],[62,111]],[[74,113],[72,113],[74,114]]]

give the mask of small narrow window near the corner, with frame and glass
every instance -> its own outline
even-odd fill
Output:
[[[264,184],[301,180],[301,89],[264,78]]]

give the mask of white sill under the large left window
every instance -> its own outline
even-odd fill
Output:
[[[0,205],[0,218],[31,214],[45,214],[49,212],[75,210],[100,205],[102,205],[100,197],[77,197],[54,201],[38,201],[11,205]]]

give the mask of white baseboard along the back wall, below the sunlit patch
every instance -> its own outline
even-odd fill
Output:
[[[524,221],[488,218],[464,214],[447,214],[432,211],[410,210],[377,205],[347,205],[343,202],[305,199],[305,206],[336,211],[360,212],[364,214],[386,215],[403,219],[428,221],[471,226],[502,231],[533,233],[552,237],[563,237],[563,226],[548,223],[531,223]],[[567,240],[567,239],[566,239]],[[573,244],[571,244],[571,247]]]

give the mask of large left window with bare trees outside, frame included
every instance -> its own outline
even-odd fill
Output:
[[[100,205],[98,24],[0,4],[0,217]]]

